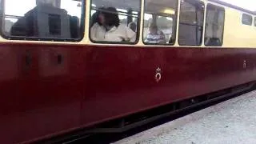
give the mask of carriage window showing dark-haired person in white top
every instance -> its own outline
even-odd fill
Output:
[[[131,43],[138,40],[140,0],[92,0],[90,40]]]

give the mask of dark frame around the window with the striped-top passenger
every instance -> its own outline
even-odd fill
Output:
[[[144,6],[143,6],[143,22],[142,22],[142,43],[144,45],[152,45],[152,46],[174,46],[175,43],[176,43],[176,40],[177,40],[177,28],[178,28],[178,4],[179,4],[179,1],[178,0],[175,0],[177,2],[177,6],[176,6],[176,9],[175,10],[175,16],[174,18],[176,18],[176,21],[175,21],[175,27],[174,27],[174,33],[175,33],[175,37],[174,37],[174,43],[149,43],[149,42],[144,42],[144,39],[143,39],[143,36],[144,36],[144,18],[145,18],[145,14],[147,14],[145,12],[145,6],[146,6],[146,0],[144,2]],[[173,23],[174,24],[174,23]],[[174,25],[173,25],[174,26]]]

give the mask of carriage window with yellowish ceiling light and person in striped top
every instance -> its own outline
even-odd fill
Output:
[[[177,0],[145,1],[143,42],[174,45],[176,35]]]

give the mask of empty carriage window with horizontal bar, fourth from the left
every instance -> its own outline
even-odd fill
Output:
[[[178,44],[200,46],[204,19],[204,3],[198,0],[182,0],[179,20]]]

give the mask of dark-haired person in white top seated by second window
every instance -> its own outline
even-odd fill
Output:
[[[129,27],[120,24],[116,8],[108,7],[102,10],[98,14],[98,21],[90,29],[90,38],[93,41],[135,42],[136,33]]]

